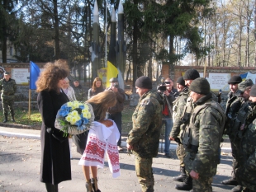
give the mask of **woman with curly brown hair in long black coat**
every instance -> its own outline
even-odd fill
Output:
[[[61,91],[64,78],[68,75],[66,61],[59,59],[55,63],[47,63],[36,82],[36,91],[39,93],[37,105],[42,118],[40,181],[45,183],[48,192],[58,191],[61,181],[71,180],[69,139],[55,128],[58,110],[69,101]]]

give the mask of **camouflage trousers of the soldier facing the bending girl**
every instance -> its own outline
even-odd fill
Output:
[[[152,157],[142,158],[135,156],[135,171],[143,192],[154,191],[152,162]]]

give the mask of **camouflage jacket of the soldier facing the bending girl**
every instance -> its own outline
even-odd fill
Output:
[[[162,126],[163,101],[157,92],[148,91],[140,97],[132,115],[133,126],[127,143],[132,145],[136,156],[156,157],[159,152],[159,138]]]

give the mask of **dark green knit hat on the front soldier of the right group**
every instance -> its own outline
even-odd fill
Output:
[[[189,90],[198,94],[207,95],[210,92],[210,84],[205,78],[199,77],[192,81]]]

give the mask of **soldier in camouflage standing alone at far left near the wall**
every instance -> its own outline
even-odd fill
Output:
[[[17,91],[17,85],[14,79],[10,77],[10,73],[4,73],[2,80],[0,80],[0,91],[2,99],[2,110],[4,115],[3,123],[6,123],[8,120],[8,107],[12,115],[12,122],[15,122],[14,119],[14,93]]]

